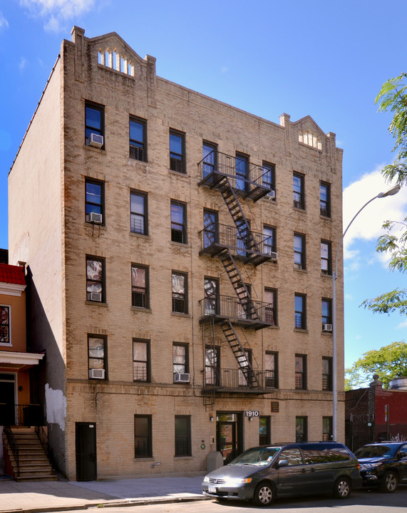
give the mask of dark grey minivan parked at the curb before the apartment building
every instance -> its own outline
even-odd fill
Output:
[[[346,499],[361,487],[359,462],[336,442],[263,445],[242,452],[210,472],[202,493],[215,499],[247,499],[268,506],[276,497],[332,493]]]

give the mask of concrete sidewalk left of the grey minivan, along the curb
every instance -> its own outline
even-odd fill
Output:
[[[0,480],[0,512],[53,512],[86,509],[105,504],[148,504],[205,500],[201,483],[204,475],[194,477],[151,477],[103,481]]]

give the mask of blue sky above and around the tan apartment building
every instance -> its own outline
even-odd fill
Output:
[[[388,0],[0,0],[0,247],[7,239],[7,175],[63,38],[115,31],[157,73],[279,123],[311,115],[344,149],[344,227],[386,190],[391,114],[374,99],[406,70],[407,2]],[[407,215],[407,188],[376,199],[344,239],[345,363],[406,340],[407,320],[359,308],[406,276],[376,253],[385,219]]]

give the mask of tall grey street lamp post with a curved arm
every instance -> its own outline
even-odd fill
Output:
[[[395,185],[394,187],[391,187],[391,189],[387,190],[386,192],[379,192],[377,196],[372,197],[369,199],[368,202],[364,204],[361,209],[359,209],[358,212],[354,215],[354,217],[351,219],[351,222],[346,227],[346,230],[344,231],[344,234],[341,237],[341,240],[338,244],[338,249],[336,249],[336,257],[335,257],[335,266],[334,271],[332,273],[332,440],[336,442],[337,434],[338,434],[338,384],[337,381],[337,372],[336,372],[336,365],[337,365],[337,354],[336,354],[336,278],[338,277],[336,274],[336,268],[338,265],[338,256],[339,256],[339,249],[341,249],[342,242],[344,242],[344,237],[346,235],[346,232],[349,230],[349,227],[354,222],[356,217],[361,213],[361,211],[364,209],[364,207],[367,207],[367,205],[373,201],[373,199],[376,198],[382,198],[387,196],[393,196],[398,193],[400,190],[400,185]]]

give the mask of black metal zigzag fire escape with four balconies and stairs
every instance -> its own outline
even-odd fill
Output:
[[[217,391],[254,394],[272,391],[274,380],[267,376],[267,371],[253,368],[235,329],[235,326],[254,330],[274,326],[272,305],[252,299],[250,286],[244,283],[237,261],[259,266],[265,261],[277,260],[277,253],[271,250],[269,237],[252,231],[239,202],[239,197],[253,202],[267,195],[272,197],[270,180],[263,167],[215,151],[204,157],[199,166],[202,179],[198,185],[220,192],[233,222],[232,226],[227,226],[217,220],[204,219],[201,231],[200,255],[220,259],[235,291],[233,297],[220,296],[215,282],[205,281],[200,319],[205,346],[203,395],[205,406],[211,406]],[[220,327],[230,346],[237,369],[218,368],[215,325]]]

